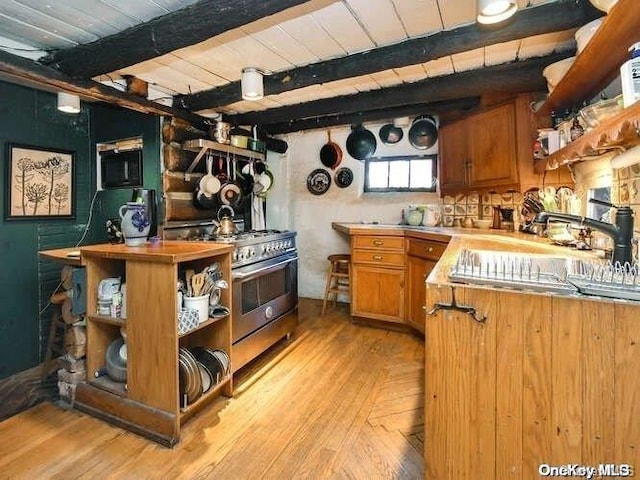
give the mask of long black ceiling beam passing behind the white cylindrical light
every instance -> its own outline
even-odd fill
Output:
[[[264,77],[265,95],[417,65],[476,48],[582,26],[602,16],[587,0],[561,0],[518,11],[506,25],[478,23],[427,37],[326,60]],[[242,99],[240,82],[179,97],[192,111],[212,109]]]

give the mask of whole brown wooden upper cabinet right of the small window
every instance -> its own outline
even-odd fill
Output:
[[[535,128],[528,108],[527,99],[518,98],[441,127],[440,192],[519,189],[520,170],[533,172]]]

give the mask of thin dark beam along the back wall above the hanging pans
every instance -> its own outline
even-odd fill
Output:
[[[311,130],[314,128],[328,128],[336,125],[354,125],[364,122],[391,120],[399,117],[411,117],[415,115],[440,115],[443,113],[453,115],[477,107],[480,97],[460,98],[442,102],[417,103],[395,108],[369,110],[351,114],[326,115],[324,117],[300,120],[295,123],[273,123],[264,125],[263,130],[269,135],[278,135],[299,130]]]

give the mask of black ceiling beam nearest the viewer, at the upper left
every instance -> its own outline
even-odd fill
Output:
[[[202,0],[123,32],[53,53],[42,62],[73,77],[135,65],[311,0]]]

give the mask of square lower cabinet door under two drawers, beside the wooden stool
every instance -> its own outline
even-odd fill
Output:
[[[354,265],[351,315],[404,321],[404,270]]]

